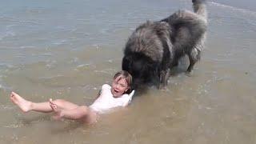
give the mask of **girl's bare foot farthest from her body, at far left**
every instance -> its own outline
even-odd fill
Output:
[[[28,112],[32,109],[32,102],[27,101],[14,92],[10,93],[10,100],[14,102],[14,104],[16,104],[23,112]]]

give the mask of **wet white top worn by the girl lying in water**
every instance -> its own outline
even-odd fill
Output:
[[[133,95],[134,91],[130,94],[123,94],[122,97],[114,98],[113,94],[111,93],[111,86],[104,84],[102,85],[100,96],[89,107],[97,113],[103,114],[114,107],[127,106],[130,103]]]

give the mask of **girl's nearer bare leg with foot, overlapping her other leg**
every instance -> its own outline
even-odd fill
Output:
[[[56,113],[54,118],[67,118],[72,120],[82,120],[87,123],[94,123],[97,120],[97,114],[93,110],[90,110],[88,106],[78,106],[71,110],[63,110],[58,104],[50,102],[50,106]]]

